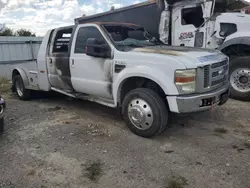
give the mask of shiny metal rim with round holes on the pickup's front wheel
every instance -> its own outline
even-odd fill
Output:
[[[149,129],[154,121],[152,108],[143,99],[133,99],[129,103],[128,117],[131,123],[140,130]]]

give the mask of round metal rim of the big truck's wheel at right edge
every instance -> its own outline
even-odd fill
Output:
[[[232,72],[230,76],[231,86],[239,92],[250,91],[250,69],[240,68]]]

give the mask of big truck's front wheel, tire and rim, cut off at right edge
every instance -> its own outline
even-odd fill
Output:
[[[250,56],[237,57],[230,62],[231,98],[250,100]]]

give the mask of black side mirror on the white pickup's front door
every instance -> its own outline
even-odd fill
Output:
[[[98,41],[96,38],[89,38],[85,47],[85,52],[89,56],[111,58],[111,49],[105,42]]]

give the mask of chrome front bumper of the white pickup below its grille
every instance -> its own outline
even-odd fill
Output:
[[[168,104],[171,112],[192,113],[206,111],[215,105],[223,105],[229,98],[229,83],[223,88],[202,94],[186,96],[168,96]]]

